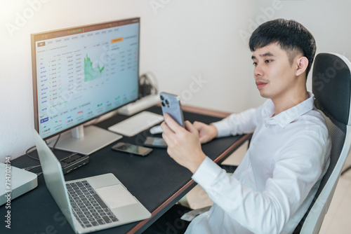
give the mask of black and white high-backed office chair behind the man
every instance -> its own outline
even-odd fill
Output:
[[[351,63],[343,55],[319,53],[312,71],[314,105],[326,118],[331,162],[294,233],[319,233],[351,145]]]

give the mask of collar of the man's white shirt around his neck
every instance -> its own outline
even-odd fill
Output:
[[[296,106],[277,114],[277,116],[272,117],[274,114],[274,104],[271,99],[265,102],[264,108],[262,110],[263,119],[267,124],[279,125],[284,128],[289,123],[296,120],[296,118],[302,116],[304,113],[311,111],[314,108],[314,95],[312,92],[308,92],[308,98],[305,101],[297,104]]]

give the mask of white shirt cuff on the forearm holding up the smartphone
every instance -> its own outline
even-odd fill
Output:
[[[192,175],[192,179],[202,188],[208,188],[217,179],[220,172],[222,172],[222,168],[213,162],[211,158],[206,157],[199,168],[197,168],[197,171]]]

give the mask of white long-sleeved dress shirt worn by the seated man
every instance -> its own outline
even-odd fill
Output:
[[[253,132],[230,176],[206,158],[193,174],[214,204],[186,233],[292,233],[329,166],[331,142],[314,95],[274,114],[272,100],[213,123],[218,137]]]

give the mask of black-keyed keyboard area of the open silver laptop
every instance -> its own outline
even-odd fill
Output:
[[[118,221],[88,181],[66,184],[73,214],[83,228]]]

